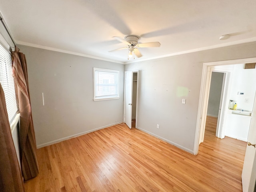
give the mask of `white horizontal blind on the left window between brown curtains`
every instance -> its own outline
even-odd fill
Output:
[[[0,44],[0,83],[4,90],[8,118],[9,118],[9,122],[11,123],[18,112],[14,79],[12,77],[12,57],[10,52],[8,52],[1,44]]]

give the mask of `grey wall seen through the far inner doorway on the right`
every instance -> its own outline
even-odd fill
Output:
[[[223,73],[212,72],[207,108],[207,115],[209,116],[218,117],[223,76]]]

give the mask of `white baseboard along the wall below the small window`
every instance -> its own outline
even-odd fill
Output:
[[[62,141],[65,141],[65,140],[68,140],[68,139],[71,139],[71,138],[75,138],[75,137],[78,137],[78,136],[81,136],[81,135],[85,135],[85,134],[88,134],[88,133],[91,133],[91,132],[94,132],[94,131],[98,131],[98,130],[101,130],[101,129],[104,129],[104,128],[107,128],[107,127],[111,127],[111,126],[117,125],[119,123],[120,122],[115,122],[113,124],[109,124],[109,125],[106,125],[106,126],[98,127],[98,128],[95,128],[95,129],[92,129],[92,130],[88,130],[88,131],[85,131],[85,132],[82,132],[82,133],[78,133],[78,134],[74,134],[74,135],[67,136],[67,137],[64,137],[64,138],[60,138],[60,139],[57,139],[57,140],[53,140],[53,141],[50,141],[50,142],[46,142],[46,143],[37,145],[36,148],[39,149],[39,148],[46,147],[46,146],[49,146],[49,145],[52,145],[52,144],[56,144],[56,143],[59,143],[59,142],[62,142]]]

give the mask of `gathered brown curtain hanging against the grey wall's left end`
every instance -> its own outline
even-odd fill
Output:
[[[18,87],[18,101],[20,110],[20,158],[24,180],[34,178],[39,173],[36,156],[36,139],[30,97],[25,55],[18,48],[12,53],[12,76]]]

